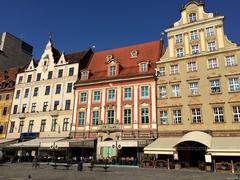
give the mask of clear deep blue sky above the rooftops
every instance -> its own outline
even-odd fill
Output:
[[[159,39],[188,0],[0,0],[1,29],[34,46],[39,58],[52,33],[55,47],[96,51]],[[207,12],[225,16],[225,34],[240,43],[240,1],[205,0]]]

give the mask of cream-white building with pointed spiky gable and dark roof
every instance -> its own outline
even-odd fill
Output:
[[[7,138],[69,137],[73,86],[91,53],[64,55],[49,40],[41,59],[32,60],[17,75]]]

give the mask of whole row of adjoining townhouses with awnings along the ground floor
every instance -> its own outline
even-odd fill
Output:
[[[198,166],[240,158],[240,47],[224,16],[189,1],[163,40],[60,53],[2,72],[0,147]]]

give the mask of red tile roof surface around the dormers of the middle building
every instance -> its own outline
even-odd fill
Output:
[[[137,50],[138,55],[136,58],[131,58],[131,51]],[[126,46],[111,50],[104,50],[95,52],[87,70],[90,71],[88,80],[79,80],[81,82],[99,81],[107,79],[135,77],[154,74],[155,63],[160,59],[162,50],[161,41],[152,41],[132,46]],[[120,64],[120,72],[117,76],[109,77],[107,72],[107,55],[113,55],[113,59],[117,60]],[[148,61],[149,71],[147,73],[139,72],[139,62]]]

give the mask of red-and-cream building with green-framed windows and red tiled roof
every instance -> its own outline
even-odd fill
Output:
[[[136,157],[157,136],[155,63],[162,43],[94,53],[75,84],[74,137],[96,139],[97,157]]]

